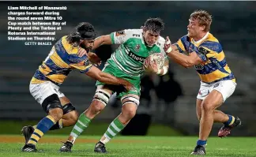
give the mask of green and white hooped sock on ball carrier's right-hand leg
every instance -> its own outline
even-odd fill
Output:
[[[105,140],[100,140],[100,142],[107,144],[109,140],[111,140],[117,133],[119,133],[122,129],[124,129],[126,125],[123,125],[119,118],[115,118],[114,121],[108,126],[107,131],[104,133]]]

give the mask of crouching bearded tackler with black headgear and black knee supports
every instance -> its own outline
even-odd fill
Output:
[[[95,37],[92,24],[86,22],[79,24],[75,32],[71,32],[69,36],[63,36],[55,43],[48,57],[36,70],[29,90],[48,115],[36,125],[36,129],[32,126],[22,129],[26,140],[22,151],[36,151],[38,140],[49,129],[61,129],[77,122],[78,113],[75,107],[59,91],[60,84],[73,69],[78,69],[88,77],[106,84],[122,85],[127,90],[132,88],[133,85],[128,81],[101,72],[91,64],[87,55],[81,57],[78,55],[78,52],[83,54],[81,52],[83,49],[87,51],[92,49]]]

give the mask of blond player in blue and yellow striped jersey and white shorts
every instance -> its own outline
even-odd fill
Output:
[[[235,77],[225,59],[219,41],[209,33],[212,17],[205,10],[191,13],[188,34],[171,44],[167,37],[164,50],[168,57],[188,68],[194,66],[201,79],[197,96],[197,115],[200,132],[192,155],[205,155],[205,145],[213,122],[222,122],[218,136],[227,136],[230,130],[241,124],[239,118],[216,110],[235,91]],[[188,55],[183,54],[186,52]]]

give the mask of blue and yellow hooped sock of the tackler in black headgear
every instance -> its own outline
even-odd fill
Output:
[[[43,134],[46,133],[53,125],[55,125],[55,119],[52,118],[51,115],[47,115],[47,117],[43,118],[36,125],[36,129],[32,133],[32,136],[29,138],[28,144],[36,145]]]

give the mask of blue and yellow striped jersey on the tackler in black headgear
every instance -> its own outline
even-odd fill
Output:
[[[50,80],[60,85],[73,69],[79,69],[81,73],[86,73],[92,67],[87,56],[78,57],[78,47],[73,47],[68,43],[66,37],[63,36],[52,47],[50,54],[32,77],[32,84]]]

